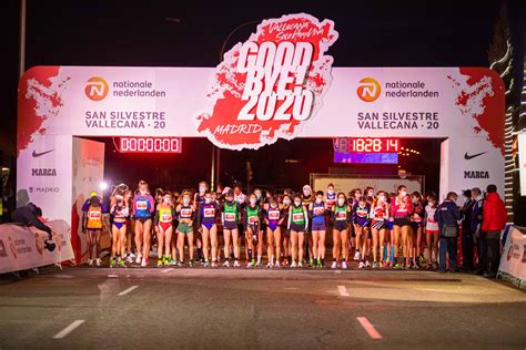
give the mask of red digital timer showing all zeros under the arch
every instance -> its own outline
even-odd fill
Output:
[[[120,137],[122,153],[181,153],[181,137]]]

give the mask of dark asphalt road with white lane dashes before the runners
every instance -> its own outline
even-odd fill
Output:
[[[526,348],[526,294],[431,271],[47,268],[0,281],[0,349]]]

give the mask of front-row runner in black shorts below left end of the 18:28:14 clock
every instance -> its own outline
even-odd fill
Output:
[[[334,220],[333,229],[333,265],[331,268],[337,268],[340,264],[340,254],[342,255],[343,262],[342,268],[346,269],[348,267],[348,224],[351,223],[351,207],[347,204],[344,193],[337,194],[336,205],[334,205],[332,210],[332,218]]]

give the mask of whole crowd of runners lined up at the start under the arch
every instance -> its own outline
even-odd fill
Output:
[[[361,269],[436,269],[437,205],[436,194],[409,194],[403,185],[396,193],[335,193],[330,184],[244,194],[240,186],[211,192],[205,182],[195,193],[150,192],[141,181],[136,189],[115,186],[105,200],[92,193],[82,231],[90,266],[101,266],[100,238],[110,228],[111,267],[145,267],[156,257],[156,266],[346,269],[355,260]]]

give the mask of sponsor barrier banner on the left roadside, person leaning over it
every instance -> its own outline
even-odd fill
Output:
[[[16,224],[0,225],[0,274],[24,270],[73,259],[70,227],[64,220],[48,222],[57,247],[44,249],[48,233]]]

